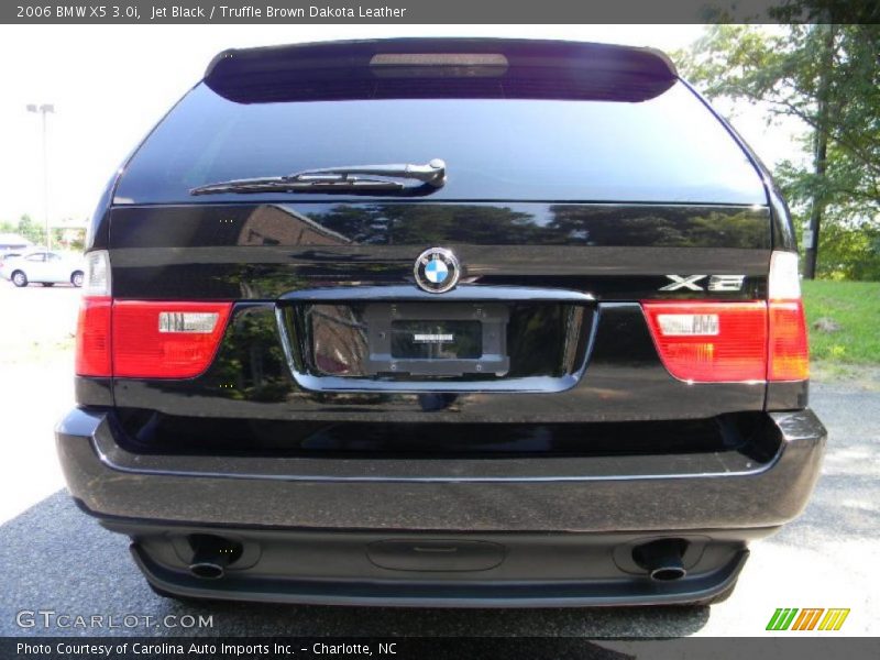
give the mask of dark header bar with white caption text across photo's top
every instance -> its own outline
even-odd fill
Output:
[[[877,23],[876,0],[18,0],[11,24]]]

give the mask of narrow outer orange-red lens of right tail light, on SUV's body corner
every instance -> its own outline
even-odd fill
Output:
[[[810,377],[806,321],[801,300],[770,300],[770,363],[768,381]]]

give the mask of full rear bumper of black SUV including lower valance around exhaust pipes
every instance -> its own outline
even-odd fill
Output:
[[[748,541],[804,507],[825,429],[810,410],[768,418],[779,449],[763,463],[728,452],[422,461],[145,455],[120,447],[112,416],[97,409],[72,411],[57,446],[79,505],[132,537],[139,565],[167,592],[327,604],[660,604],[724,591]],[[187,570],[188,539],[200,534],[244,548],[222,580]],[[664,537],[689,548],[686,578],[670,583],[632,562],[635,546]],[[397,543],[395,552],[404,546],[392,565],[374,552],[387,542]],[[438,569],[437,544],[465,559],[476,547],[483,559]],[[486,560],[486,549],[499,561]]]

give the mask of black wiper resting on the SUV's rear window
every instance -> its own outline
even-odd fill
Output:
[[[420,186],[406,186],[396,179],[415,179]],[[351,165],[304,169],[287,176],[231,179],[206,184],[189,190],[190,195],[221,193],[398,193],[430,194],[443,186],[447,166],[440,158],[427,165]]]

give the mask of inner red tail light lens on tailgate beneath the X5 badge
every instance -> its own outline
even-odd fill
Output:
[[[676,378],[700,383],[767,377],[767,304],[644,302],[660,359]]]

